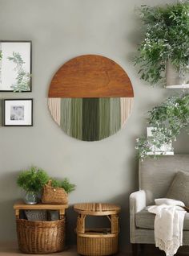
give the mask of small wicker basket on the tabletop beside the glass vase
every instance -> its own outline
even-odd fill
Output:
[[[67,204],[68,196],[63,188],[53,188],[51,180],[43,187],[42,204]]]

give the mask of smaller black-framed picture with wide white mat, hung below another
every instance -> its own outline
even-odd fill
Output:
[[[4,126],[33,126],[33,99],[4,100]]]

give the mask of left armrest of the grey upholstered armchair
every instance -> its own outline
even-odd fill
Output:
[[[135,243],[135,213],[140,212],[147,206],[146,192],[139,190],[130,195],[130,239],[131,243]]]

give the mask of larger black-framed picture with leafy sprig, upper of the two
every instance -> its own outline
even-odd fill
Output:
[[[31,92],[31,41],[0,41],[0,92]]]

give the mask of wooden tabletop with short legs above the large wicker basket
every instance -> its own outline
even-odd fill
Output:
[[[15,202],[14,206],[15,216],[19,218],[20,210],[58,210],[60,218],[65,215],[65,209],[68,204],[25,204],[23,200]]]

